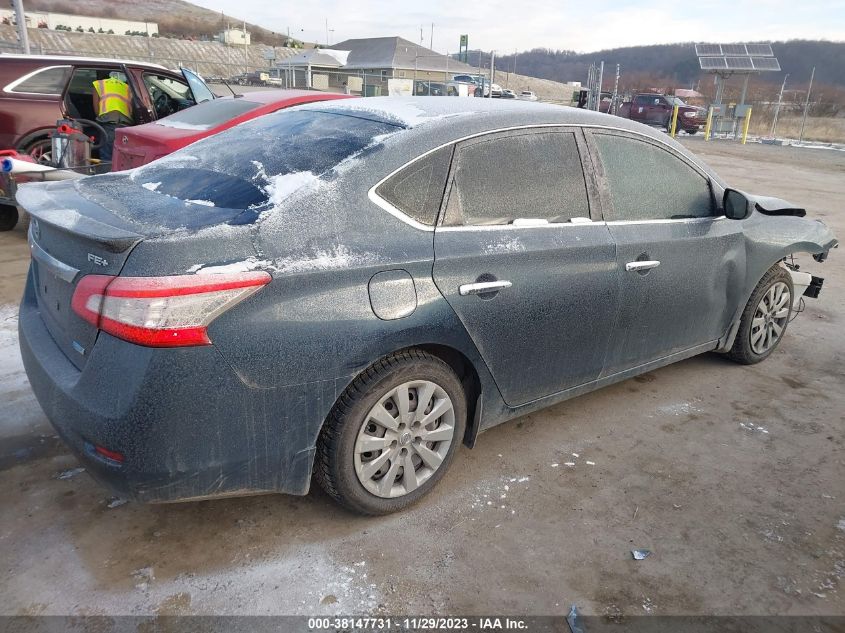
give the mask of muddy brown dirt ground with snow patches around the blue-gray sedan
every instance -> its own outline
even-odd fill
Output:
[[[685,140],[845,237],[845,152]],[[0,234],[0,614],[845,614],[845,250],[766,362],[707,354],[493,429],[416,507],[316,488],[128,503],[82,472],[17,350]],[[634,561],[630,550],[653,554]]]

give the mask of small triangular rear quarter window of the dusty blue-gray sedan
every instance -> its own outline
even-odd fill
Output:
[[[376,193],[417,222],[434,226],[451,157],[451,145],[436,150],[394,174]]]

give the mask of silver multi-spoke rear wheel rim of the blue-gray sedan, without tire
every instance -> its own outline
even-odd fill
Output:
[[[377,497],[404,496],[440,468],[455,435],[455,409],[434,382],[392,388],[370,409],[355,440],[355,474]]]

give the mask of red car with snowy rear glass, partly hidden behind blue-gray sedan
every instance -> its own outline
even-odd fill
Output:
[[[206,101],[152,123],[118,129],[112,171],[146,165],[195,141],[276,110],[300,103],[348,98],[349,95],[309,90],[267,90]]]

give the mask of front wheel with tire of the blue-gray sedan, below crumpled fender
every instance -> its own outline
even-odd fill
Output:
[[[793,294],[792,276],[788,270],[775,265],[766,271],[742,311],[736,339],[728,352],[731,360],[753,365],[775,351],[786,334]],[[785,307],[781,305],[784,302]]]

